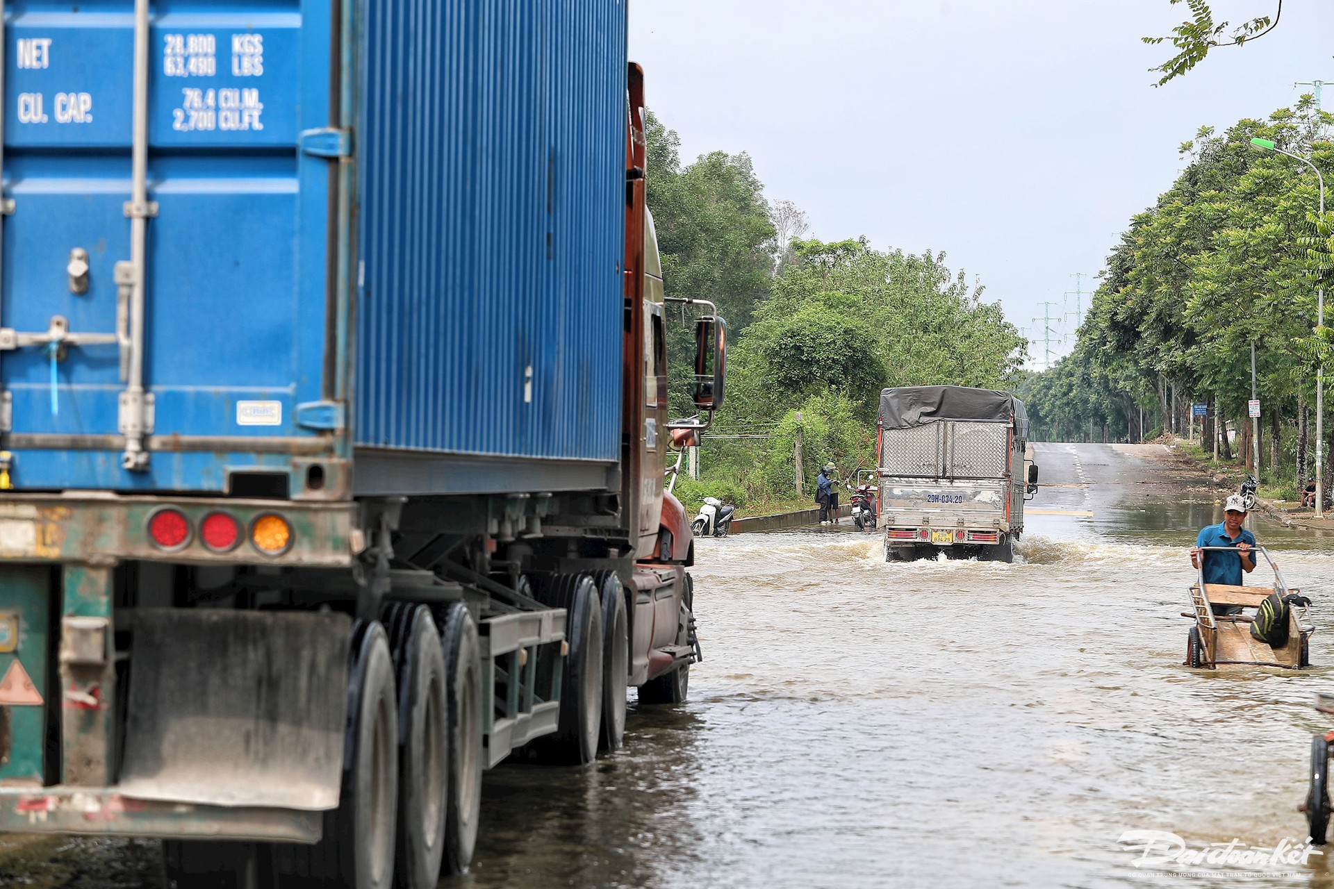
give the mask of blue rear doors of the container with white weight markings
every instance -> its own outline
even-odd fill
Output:
[[[329,0],[4,7],[15,485],[223,490],[285,470],[317,435],[297,407],[331,385]]]

